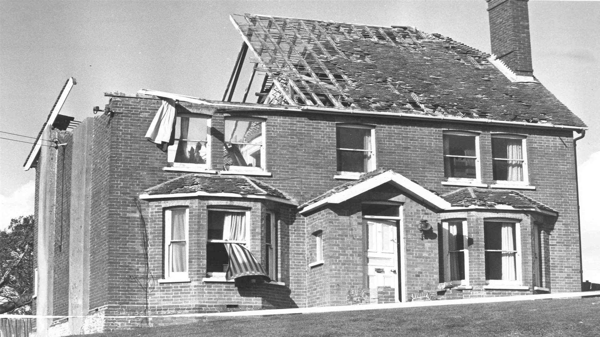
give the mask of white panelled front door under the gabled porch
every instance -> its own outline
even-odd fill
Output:
[[[367,227],[368,288],[395,288],[398,297],[398,222],[364,219]]]

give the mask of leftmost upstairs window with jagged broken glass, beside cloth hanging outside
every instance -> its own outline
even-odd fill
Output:
[[[175,143],[167,151],[169,163],[178,167],[208,168],[211,120],[197,115],[179,114],[175,123]]]

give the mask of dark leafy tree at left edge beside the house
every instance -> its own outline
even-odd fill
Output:
[[[0,231],[0,314],[31,314],[34,216],[11,219]]]

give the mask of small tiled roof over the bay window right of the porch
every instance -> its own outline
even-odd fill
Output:
[[[527,197],[527,195],[508,189],[464,187],[443,194],[442,198],[451,203],[452,206],[458,207],[508,205],[517,208],[536,207],[558,213],[551,207]]]

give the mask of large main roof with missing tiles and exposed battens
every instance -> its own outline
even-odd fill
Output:
[[[254,14],[232,19],[260,70],[285,92],[284,104],[585,127],[541,83],[511,82],[490,55],[440,34]]]

